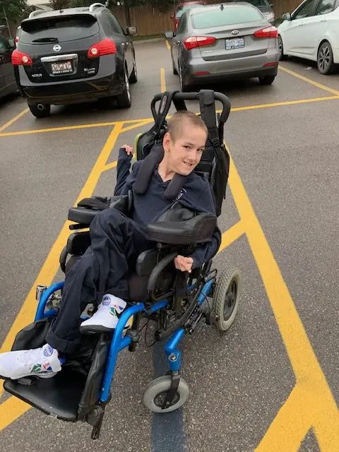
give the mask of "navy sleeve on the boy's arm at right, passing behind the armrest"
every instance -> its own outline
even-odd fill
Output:
[[[201,191],[199,196],[198,206],[196,206],[196,211],[198,213],[212,213],[215,215],[215,202],[212,190],[210,189],[210,184],[206,183],[206,187]],[[212,240],[206,242],[206,244],[201,244],[198,246],[194,252],[191,254],[193,258],[192,268],[198,268],[203,265],[203,263],[210,261],[215,254],[217,254],[218,249],[221,244],[221,232],[219,227],[215,228]]]

